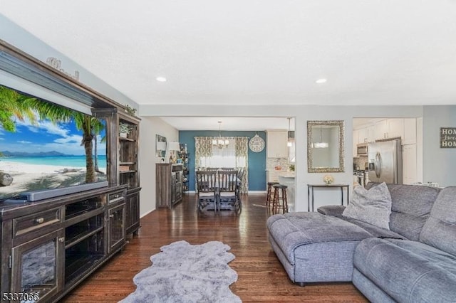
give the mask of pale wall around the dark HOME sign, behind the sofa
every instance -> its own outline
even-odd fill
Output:
[[[440,148],[440,127],[456,127],[456,105],[423,107],[423,182],[456,186],[456,149]]]

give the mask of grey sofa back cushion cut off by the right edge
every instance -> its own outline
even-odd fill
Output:
[[[456,186],[440,191],[420,241],[456,256]]]

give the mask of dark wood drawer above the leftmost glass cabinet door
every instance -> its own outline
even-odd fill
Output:
[[[53,208],[13,219],[13,235],[24,235],[38,228],[61,222],[61,208]]]

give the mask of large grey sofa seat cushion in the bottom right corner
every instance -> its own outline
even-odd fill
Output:
[[[430,245],[368,238],[353,265],[398,302],[456,302],[456,258]]]

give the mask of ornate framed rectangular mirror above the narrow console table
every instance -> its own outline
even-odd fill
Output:
[[[343,146],[343,120],[307,121],[309,173],[345,171]]]

